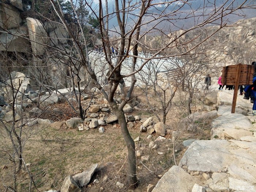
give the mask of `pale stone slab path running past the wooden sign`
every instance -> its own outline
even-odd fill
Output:
[[[256,192],[256,117],[252,104],[238,97],[236,113],[231,114],[233,92],[206,96],[205,104],[217,108],[211,140],[190,144],[179,165],[163,175],[153,192]]]

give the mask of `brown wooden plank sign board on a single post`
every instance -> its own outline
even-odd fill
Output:
[[[221,70],[221,83],[223,85],[234,85],[234,95],[232,101],[231,113],[235,113],[236,102],[237,102],[237,92],[239,85],[249,85],[252,84],[254,66],[253,65],[229,65],[223,67]]]

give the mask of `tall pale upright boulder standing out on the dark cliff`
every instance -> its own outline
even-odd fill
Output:
[[[32,52],[34,54],[43,54],[45,48],[42,44],[47,44],[48,42],[44,26],[37,19],[27,17],[26,20]]]

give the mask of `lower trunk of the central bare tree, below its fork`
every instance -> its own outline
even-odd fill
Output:
[[[121,126],[121,131],[124,137],[124,141],[128,149],[127,187],[129,189],[135,189],[138,185],[137,177],[136,177],[135,143],[131,135],[129,134],[123,109],[122,110],[113,109],[113,111],[118,118],[119,124]]]

